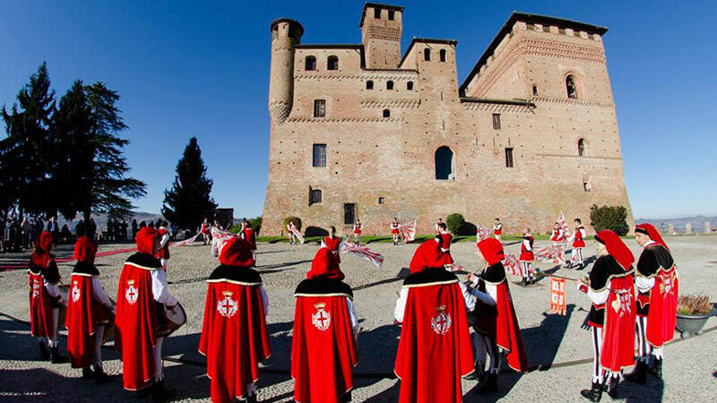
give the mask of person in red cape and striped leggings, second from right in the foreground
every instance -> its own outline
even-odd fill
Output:
[[[580,393],[585,399],[600,401],[603,390],[610,398],[618,396],[620,373],[635,364],[635,257],[609,229],[598,231],[595,240],[598,259],[590,270],[589,283],[577,284],[592,301],[588,325],[594,356],[592,388]]]

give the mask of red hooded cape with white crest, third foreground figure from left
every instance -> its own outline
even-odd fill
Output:
[[[155,368],[151,349],[156,331],[165,319],[161,304],[154,301],[151,291],[151,271],[161,270],[160,261],[153,256],[158,236],[151,227],[137,233],[137,252],[122,268],[117,289],[115,317],[115,348],[122,355],[122,377],[125,390],[141,390],[151,385]]]

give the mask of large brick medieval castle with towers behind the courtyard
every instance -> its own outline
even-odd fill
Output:
[[[461,213],[508,233],[545,232],[560,211],[589,223],[627,200],[606,28],[513,13],[459,84],[456,40],[413,38],[403,8],[364,5],[360,44],[302,44],[271,23],[271,139],[263,235],[282,220],[387,234],[393,217],[433,231]]]

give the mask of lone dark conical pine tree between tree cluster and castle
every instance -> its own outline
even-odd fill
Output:
[[[202,150],[192,137],[177,162],[177,176],[172,188],[164,191],[162,215],[177,227],[194,230],[205,217],[213,218],[217,210],[211,196],[214,181],[206,174]]]

